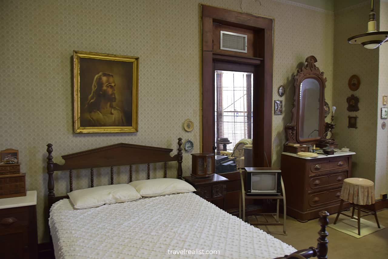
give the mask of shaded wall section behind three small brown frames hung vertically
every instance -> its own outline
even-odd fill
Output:
[[[366,1],[334,12],[333,103],[337,107],[334,138],[340,147],[347,146],[357,153],[353,156],[353,176],[374,181],[379,51],[347,43],[348,37],[367,31],[369,4]],[[358,75],[361,82],[357,91],[348,87],[348,79],[353,74]],[[351,94],[359,97],[358,112],[346,110],[346,98]],[[348,116],[356,115],[358,128],[348,128]]]

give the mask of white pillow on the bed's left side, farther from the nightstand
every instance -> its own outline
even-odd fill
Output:
[[[141,198],[140,194],[128,184],[112,184],[81,189],[68,193],[74,208],[92,208],[104,204],[133,201]]]

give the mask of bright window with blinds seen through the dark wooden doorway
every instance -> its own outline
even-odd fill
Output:
[[[220,138],[228,138],[227,149],[243,138],[252,138],[253,73],[215,70],[215,143],[223,151]]]

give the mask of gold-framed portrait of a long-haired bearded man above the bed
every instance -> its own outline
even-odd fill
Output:
[[[73,51],[75,133],[138,128],[139,57]]]

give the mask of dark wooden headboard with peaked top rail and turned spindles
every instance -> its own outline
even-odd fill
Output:
[[[164,177],[167,177],[167,162],[177,161],[178,170],[177,178],[182,179],[182,138],[178,138],[178,154],[170,156],[172,149],[161,147],[150,147],[126,143],[98,147],[73,154],[62,156],[65,160],[64,165],[54,163],[52,160],[52,144],[47,144],[47,173],[48,179],[48,200],[49,208],[53,203],[61,199],[69,198],[68,196],[55,197],[54,178],[55,171],[69,172],[69,190],[73,191],[73,172],[75,169],[90,168],[90,187],[94,187],[94,168],[111,167],[110,178],[111,184],[114,184],[114,166],[129,165],[129,178],[132,182],[132,165],[147,164],[147,179],[150,179],[150,164],[164,162]]]

